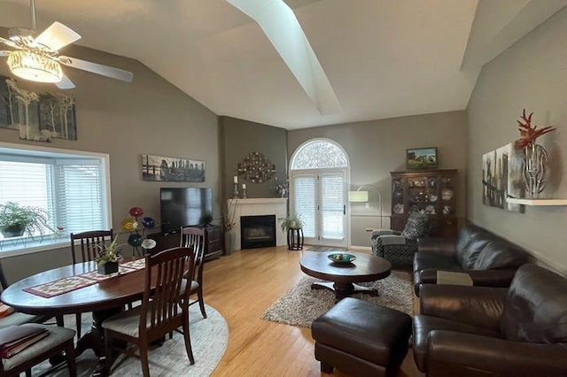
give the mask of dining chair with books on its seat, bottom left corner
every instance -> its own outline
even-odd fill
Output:
[[[74,365],[74,330],[66,327],[37,324],[20,326],[43,327],[48,329],[50,334],[25,350],[19,351],[12,358],[0,358],[0,377],[18,377],[19,373],[22,372],[26,372],[26,376],[30,377],[33,366],[40,364],[48,358],[59,355],[63,351],[65,351],[69,375],[71,377],[77,375]]]

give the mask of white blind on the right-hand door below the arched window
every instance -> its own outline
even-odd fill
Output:
[[[342,240],[345,237],[345,179],[342,174],[321,176],[321,235],[322,238]]]

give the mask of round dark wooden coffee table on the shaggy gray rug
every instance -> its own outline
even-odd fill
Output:
[[[392,265],[384,258],[371,254],[348,251],[356,256],[356,260],[346,265],[331,262],[328,255],[332,252],[306,252],[299,259],[301,271],[307,275],[324,281],[311,284],[311,289],[330,289],[335,292],[335,299],[339,301],[353,293],[366,293],[378,296],[377,289],[362,287],[357,282],[379,281],[390,276]]]

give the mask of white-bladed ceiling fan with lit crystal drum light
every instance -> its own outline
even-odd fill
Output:
[[[54,22],[37,35],[35,0],[30,0],[30,6],[32,29],[14,27],[8,31],[8,39],[0,37],[0,42],[14,49],[0,50],[0,57],[8,57],[7,63],[13,74],[24,80],[55,83],[61,89],[74,88],[74,83],[63,73],[61,65],[121,81],[132,81],[134,74],[131,72],[59,55],[59,50],[81,39],[81,35],[59,22]]]

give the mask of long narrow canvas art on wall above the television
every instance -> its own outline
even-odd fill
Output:
[[[205,162],[189,158],[142,155],[144,181],[204,182]]]

